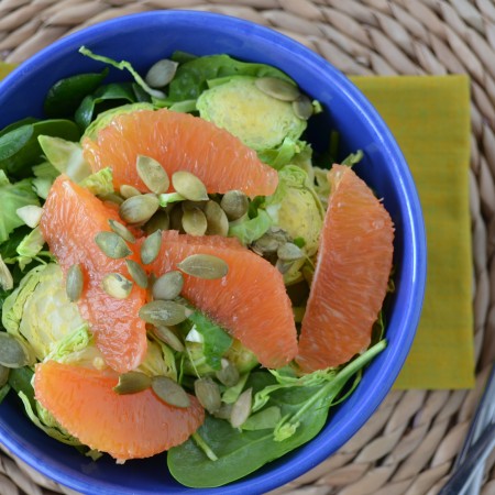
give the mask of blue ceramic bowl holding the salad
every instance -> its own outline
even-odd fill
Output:
[[[362,148],[358,173],[384,198],[396,228],[396,292],[387,307],[388,346],[364,373],[352,396],[331,410],[323,430],[309,443],[228,486],[205,494],[260,494],[315,468],[345,443],[371,417],[396,380],[413,343],[422,304],[426,242],[421,209],[409,168],[391,131],[363,95],[319,55],[270,29],[224,15],[157,11],[130,15],[67,36],[22,64],[0,85],[0,129],[28,116],[43,117],[43,99],[58,79],[102,65],[77,53],[86,45],[98,54],[127,59],[145,72],[180,50],[196,55],[227,53],[271,64],[292,76],[326,112],[310,130],[320,146],[331,129],[342,154]],[[114,80],[127,77],[118,70]],[[186,494],[168,474],[165,454],[117,465],[96,463],[46,437],[23,415],[14,394],[0,405],[0,441],[44,475],[85,494]]]

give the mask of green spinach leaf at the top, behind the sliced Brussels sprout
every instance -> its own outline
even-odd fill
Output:
[[[177,54],[173,55],[173,58]],[[180,56],[184,59],[184,56]],[[196,100],[208,88],[208,80],[227,76],[277,77],[294,82],[286,74],[265,64],[240,62],[229,55],[208,55],[180,64],[169,84],[170,101]]]

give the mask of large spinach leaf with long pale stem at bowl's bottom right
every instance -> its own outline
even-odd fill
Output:
[[[229,422],[207,417],[197,435],[215,453],[211,461],[194,439],[168,451],[170,474],[182,484],[190,487],[215,487],[231,483],[256,471],[262,465],[280,458],[308,442],[318,435],[327,422],[328,410],[336,403],[348,381],[355,375],[385,346],[385,341],[371,348],[350,362],[337,374],[329,373],[329,380],[300,386],[297,378],[282,377],[282,384],[268,373],[253,373],[246,387],[256,393],[275,387],[270,394],[266,407],[278,407],[282,419],[275,429],[240,431]],[[266,376],[268,375],[268,376]],[[293,383],[295,386],[290,386]],[[262,409],[265,410],[265,409]]]

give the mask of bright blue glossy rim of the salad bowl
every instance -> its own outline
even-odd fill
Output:
[[[18,68],[15,68],[10,75],[8,75],[3,81],[0,84],[0,91],[2,90],[14,90],[15,81],[29,78],[33,70],[37,70],[38,65],[45,66],[50,64],[52,57],[57,57],[63,55],[68,50],[76,50],[82,45],[87,44],[90,38],[98,38],[105,36],[106,33],[112,33],[116,30],[125,31],[125,26],[133,25],[135,22],[145,23],[170,23],[170,22],[194,22],[197,26],[200,26],[205,22],[205,16],[215,21],[217,29],[222,29],[226,32],[234,33],[242,31],[249,33],[251,36],[256,36],[263,38],[266,43],[277,44],[278,46],[290,50],[296,54],[296,56],[304,56],[307,59],[308,66],[314,67],[317,70],[323,72],[324,74],[331,76],[334,84],[339,87],[350,102],[355,107],[361,109],[362,117],[365,118],[367,124],[374,130],[376,135],[380,135],[381,144],[385,147],[386,153],[391,156],[391,161],[396,168],[396,174],[400,179],[400,185],[404,191],[408,191],[405,198],[406,215],[410,219],[408,227],[408,235],[410,235],[411,245],[405,246],[410,249],[410,262],[411,266],[408,271],[408,277],[410,279],[410,294],[408,304],[405,305],[406,314],[402,317],[402,321],[407,321],[410,327],[410,331],[403,332],[402,338],[398,341],[394,350],[388,350],[392,352],[389,356],[389,362],[385,363],[383,371],[385,376],[380,384],[373,384],[367,398],[360,404],[349,417],[348,424],[352,425],[352,428],[343,428],[338,431],[332,438],[332,444],[340,448],[345,441],[348,441],[355,432],[365,424],[365,421],[372,416],[373,411],[383,402],[386,394],[392,388],[394,381],[396,380],[398,372],[400,371],[409,349],[413,344],[416,328],[419,322],[421,304],[425,295],[425,284],[426,284],[426,234],[424,219],[420,208],[419,198],[414,184],[413,176],[409,172],[407,163],[403,156],[403,153],[396,143],[393,134],[386,127],[382,117],[374,109],[372,103],[362,95],[362,92],[351,82],[340,70],[338,70],[333,65],[331,65],[323,57],[311,51],[310,48],[304,46],[299,42],[286,36],[285,34],[275,32],[274,30],[246,21],[243,19],[234,18],[231,15],[212,13],[212,12],[200,12],[200,11],[188,11],[188,10],[156,10],[147,11],[134,14],[128,14],[117,19],[107,20],[98,24],[85,28],[81,31],[69,34],[50,46],[43,48],[31,58],[22,63]],[[84,41],[84,43],[82,43]],[[419,304],[418,304],[419,302]],[[414,331],[413,331],[414,328]],[[380,358],[380,356],[378,356]],[[323,430],[324,431],[324,427]],[[229,485],[219,488],[207,488],[198,490],[197,492],[202,493],[223,493],[223,494],[235,494],[241,490],[242,493],[263,493],[268,490],[273,490],[277,486],[298,477],[310,469],[315,468],[318,463],[322,462],[329,455],[329,444],[328,442],[318,441],[321,433],[319,433],[311,443],[311,455],[298,455],[297,462],[290,459],[286,463],[278,463],[273,470],[268,472],[260,473],[260,471],[253,473],[245,479],[233,482]],[[321,440],[321,439],[320,439]],[[56,466],[52,466],[48,463],[40,462],[40,459],[25,450],[25,446],[20,444],[10,433],[9,430],[3,426],[0,418],[0,441],[6,446],[6,448],[11,451],[14,455],[18,455],[22,461],[24,461],[30,466],[40,471],[42,474],[55,480],[56,482],[69,486],[73,490],[77,490],[82,493],[91,494],[110,494],[110,493],[135,493],[128,492],[124,488],[119,488],[118,492],[112,492],[114,485],[106,486],[101,485],[101,488],[95,488],[90,484],[90,477],[85,475],[78,475],[80,473],[74,473],[72,469],[67,469],[67,472],[61,472]],[[301,446],[297,450],[306,452],[307,446]],[[306,449],[305,449],[306,447]],[[336,449],[333,449],[336,451]],[[255,476],[254,479],[252,476]],[[185,491],[190,492],[193,488],[185,488]],[[151,492],[145,492],[151,493]]]

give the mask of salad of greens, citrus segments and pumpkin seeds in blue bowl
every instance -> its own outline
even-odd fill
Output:
[[[233,482],[317,436],[385,348],[392,222],[352,172],[361,151],[329,174],[338,134],[312,150],[323,109],[275,67],[176,52],[139,74],[79,52],[102,70],[0,131],[0,400],[96,462],[167,451],[186,486]],[[331,358],[344,177],[389,249],[364,338]]]

